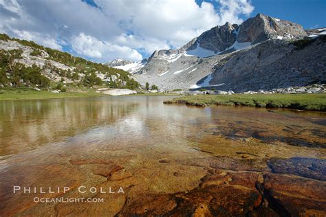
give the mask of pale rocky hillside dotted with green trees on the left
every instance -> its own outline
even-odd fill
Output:
[[[77,82],[85,86],[139,86],[127,71],[91,62],[32,41],[0,34],[0,85],[47,87],[50,82]],[[42,85],[41,85],[41,80]],[[46,82],[45,82],[46,81]]]

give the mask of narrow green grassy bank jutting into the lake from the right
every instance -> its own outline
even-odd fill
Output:
[[[164,104],[255,106],[261,108],[326,111],[326,93],[186,95],[180,98],[174,98],[173,100],[166,100]]]

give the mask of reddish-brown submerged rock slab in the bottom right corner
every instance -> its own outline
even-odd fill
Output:
[[[325,216],[326,185],[323,181],[287,174],[266,174],[264,196],[280,216]]]

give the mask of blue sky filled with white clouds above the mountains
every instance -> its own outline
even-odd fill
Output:
[[[258,12],[326,27],[326,0],[7,0],[0,32],[96,62],[142,60]]]

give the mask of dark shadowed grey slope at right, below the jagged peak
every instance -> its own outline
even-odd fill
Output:
[[[210,84],[225,83],[219,89],[235,92],[305,86],[326,80],[325,53],[325,36],[303,48],[265,41],[219,62]]]

